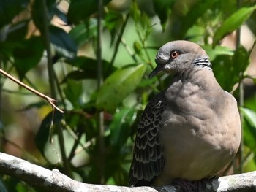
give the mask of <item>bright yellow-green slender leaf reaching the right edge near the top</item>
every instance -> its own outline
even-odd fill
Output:
[[[213,45],[217,45],[222,37],[239,28],[249,18],[255,9],[256,6],[243,7],[234,12],[233,15],[230,15],[230,17],[227,18],[215,32]]]

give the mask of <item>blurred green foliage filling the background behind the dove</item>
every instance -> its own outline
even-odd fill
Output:
[[[15,98],[19,99],[12,107],[17,109],[19,105],[27,112],[36,109],[40,118],[39,129],[33,128],[35,140],[30,145],[34,148],[24,147],[23,151],[27,152],[21,154],[23,158],[49,169],[56,167],[85,183],[127,185],[141,112],[148,99],[170,80],[166,76],[161,81],[157,77],[148,79],[155,65],[154,55],[165,42],[188,39],[202,45],[210,55],[222,88],[232,91],[238,84],[240,89],[236,88],[234,95],[238,104],[244,105],[241,117],[244,118],[242,146],[245,148],[238,157],[241,159],[238,170],[255,169],[256,159],[249,154],[256,153],[256,96],[254,92],[244,98],[240,86],[245,78],[256,82],[246,74],[251,50],[239,42],[235,50],[222,47],[221,42],[246,23],[256,22],[252,16],[256,6],[253,0],[242,1],[239,8],[234,2],[125,1],[120,8],[104,0],[101,15],[99,1],[94,0],[70,0],[68,6],[67,1],[56,0],[1,1],[1,69],[56,96],[59,107],[65,110],[63,115],[49,112],[48,105],[38,99],[22,100],[20,98],[31,98],[31,95],[19,95],[24,91],[18,88]],[[67,12],[63,11],[65,5]],[[101,18],[97,20],[98,17]],[[253,26],[248,26],[256,34]],[[49,43],[51,54],[47,51],[47,55]],[[53,65],[47,65],[49,61]],[[53,80],[47,83],[50,70],[53,70]],[[9,92],[15,88],[8,85],[7,80],[1,78],[1,92],[12,97]],[[6,97],[1,100],[10,102]],[[10,142],[8,125],[13,118],[7,109],[3,114],[0,130],[6,146]],[[37,125],[31,122],[31,126]],[[22,128],[20,125],[15,131]],[[1,150],[8,152],[6,147]],[[56,164],[59,157],[61,161]],[[15,178],[1,176],[1,180],[0,191],[29,188]],[[39,189],[30,188],[30,191],[36,190]]]

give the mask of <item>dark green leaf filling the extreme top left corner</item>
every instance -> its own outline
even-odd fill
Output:
[[[10,24],[12,19],[22,12],[29,4],[29,0],[1,0],[0,1],[0,28]]]

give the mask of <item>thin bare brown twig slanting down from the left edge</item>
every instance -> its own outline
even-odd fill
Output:
[[[16,79],[15,77],[13,77],[12,75],[8,74],[7,72],[4,72],[4,70],[0,69],[0,73],[4,74],[5,77],[9,78],[10,80],[12,80],[13,82],[16,82],[18,85],[22,86],[23,88],[26,88],[27,90],[31,91],[32,93],[35,93],[37,96],[41,97],[42,99],[45,99],[46,101],[48,101],[48,103],[55,108],[56,110],[58,110],[61,113],[64,113],[63,110],[59,109],[59,107],[57,107],[54,103],[57,101],[53,98],[50,98],[49,96],[46,96],[45,94],[35,90],[34,88],[29,87],[29,85],[26,85],[25,83],[21,82],[20,80]]]

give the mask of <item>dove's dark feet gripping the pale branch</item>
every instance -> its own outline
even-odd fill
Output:
[[[178,185],[184,192],[200,192],[206,188],[206,180],[189,181],[175,179],[173,180],[173,185]]]

